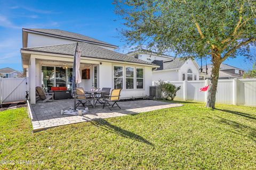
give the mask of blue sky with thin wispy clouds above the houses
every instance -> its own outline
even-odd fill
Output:
[[[20,48],[22,28],[60,29],[119,46],[119,53],[130,51],[119,38],[122,21],[114,13],[111,0],[105,1],[1,1],[0,0],[0,69],[22,70]],[[248,70],[252,64],[244,57],[224,63]],[[199,60],[197,61],[200,65]],[[207,63],[209,63],[208,61]],[[203,62],[203,65],[205,61]]]

